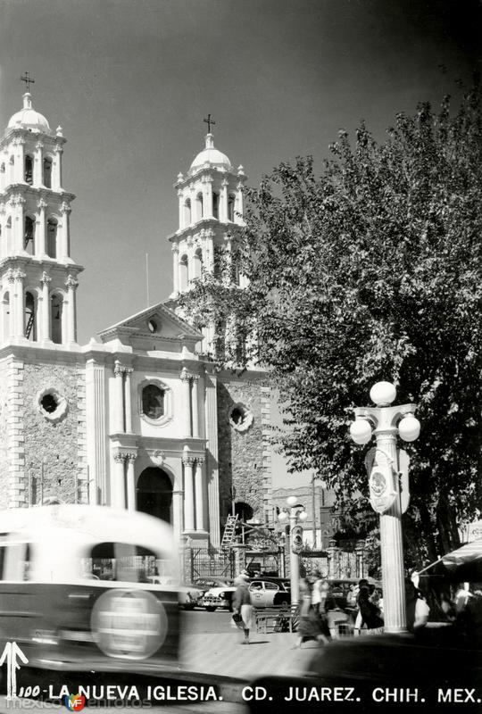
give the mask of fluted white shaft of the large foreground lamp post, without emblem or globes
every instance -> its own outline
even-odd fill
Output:
[[[381,410],[380,410],[381,411]],[[396,429],[375,432],[377,448],[393,460],[393,468],[398,469],[396,452]],[[398,479],[397,479],[398,481]],[[402,514],[400,497],[393,506],[380,514],[380,547],[383,578],[383,609],[386,632],[406,632],[405,582],[403,571]],[[386,583],[390,583],[386,586]]]

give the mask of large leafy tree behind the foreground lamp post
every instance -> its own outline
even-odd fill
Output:
[[[367,494],[353,406],[379,379],[419,404],[405,527],[422,535],[417,560],[456,546],[482,502],[481,139],[475,87],[454,113],[445,98],[398,114],[382,143],[363,124],[353,145],[341,131],[320,176],[311,157],[281,163],[233,236],[229,266],[249,285],[204,277],[185,298],[198,322],[255,334],[246,360],[279,388],[291,469],[316,469],[348,511]],[[225,363],[237,356],[227,345]]]

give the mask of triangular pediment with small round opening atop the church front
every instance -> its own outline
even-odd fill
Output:
[[[120,342],[135,345],[137,340],[159,342],[187,342],[193,345],[203,339],[203,334],[191,327],[185,320],[163,303],[146,308],[120,320],[110,328],[99,332],[103,342],[120,339]]]

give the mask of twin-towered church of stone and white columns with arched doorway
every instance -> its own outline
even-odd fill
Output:
[[[0,142],[1,506],[54,497],[144,511],[179,542],[218,548],[233,504],[271,518],[272,396],[262,372],[216,371],[203,347],[213,326],[200,332],[175,308],[243,224],[245,172],[209,133],[176,183],[170,300],[79,345],[65,142],[29,92]]]

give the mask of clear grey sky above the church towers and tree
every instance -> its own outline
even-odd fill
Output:
[[[170,295],[172,184],[215,144],[250,184],[282,160],[328,154],[365,119],[438,103],[480,66],[464,0],[0,0],[0,125],[34,107],[68,139],[79,341]],[[445,64],[443,73],[439,65]]]

